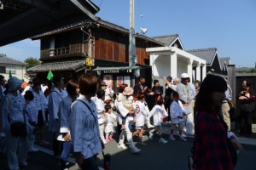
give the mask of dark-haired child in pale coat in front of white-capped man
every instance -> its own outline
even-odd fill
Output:
[[[173,102],[170,106],[172,127],[169,139],[175,140],[175,138],[173,137],[173,133],[178,129],[179,139],[187,141],[187,139],[183,137],[183,123],[185,122],[184,116],[186,115],[183,104],[179,100],[179,95],[177,94],[177,92],[173,92],[172,98]]]

